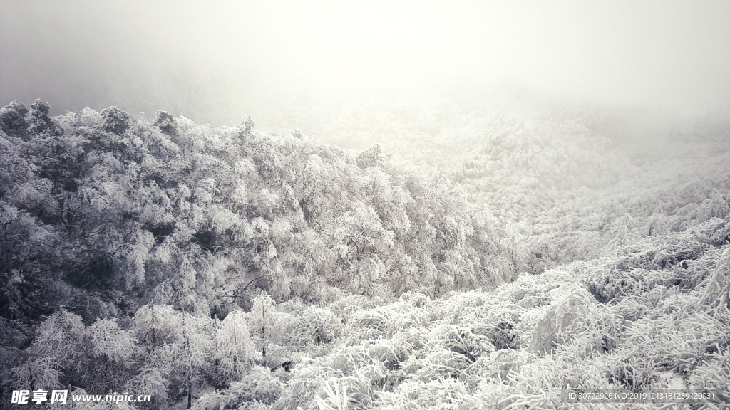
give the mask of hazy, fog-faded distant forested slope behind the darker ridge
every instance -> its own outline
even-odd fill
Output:
[[[626,229],[683,231],[726,214],[722,117],[469,89],[307,107],[291,115],[320,138],[379,142],[488,204],[518,271],[598,258]]]

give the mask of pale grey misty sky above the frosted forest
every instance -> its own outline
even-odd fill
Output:
[[[250,114],[276,127],[287,110],[328,98],[503,84],[688,115],[730,112],[730,1],[0,7],[0,105],[42,98],[53,114],[116,105],[213,125]]]

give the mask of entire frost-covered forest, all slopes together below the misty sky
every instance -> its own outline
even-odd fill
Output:
[[[211,410],[730,387],[726,128],[428,105],[380,139],[352,123],[393,155],[248,117],[0,109],[1,406],[55,387]],[[661,147],[629,148],[646,133]]]

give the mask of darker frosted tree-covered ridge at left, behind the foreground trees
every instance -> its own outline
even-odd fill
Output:
[[[2,263],[15,282],[54,271],[188,306],[246,286],[316,301],[330,286],[439,295],[511,274],[485,208],[377,146],[358,155],[250,120],[26,111],[1,114]]]

